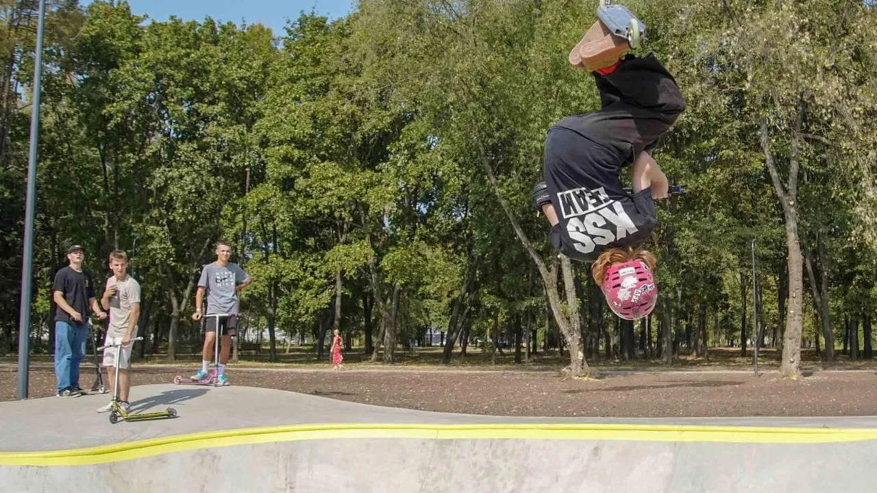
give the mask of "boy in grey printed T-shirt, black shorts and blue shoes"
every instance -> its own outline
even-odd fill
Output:
[[[232,247],[225,242],[217,243],[217,261],[205,265],[201,271],[201,279],[198,280],[198,290],[195,294],[195,313],[193,320],[200,320],[205,316],[203,311],[204,292],[207,292],[207,327],[204,335],[204,347],[202,350],[201,370],[192,375],[193,380],[203,380],[207,377],[207,368],[213,359],[213,346],[216,344],[217,325],[222,327],[222,339],[219,350],[219,384],[228,385],[225,379],[225,363],[228,361],[229,349],[232,347],[232,336],[238,333],[238,311],[240,303],[238,291],[246,288],[250,282],[249,275],[240,266],[230,262]],[[218,315],[214,317],[214,315]]]

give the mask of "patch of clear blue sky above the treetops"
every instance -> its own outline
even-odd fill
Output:
[[[203,20],[210,16],[217,21],[232,21],[240,25],[260,22],[275,34],[283,32],[289,18],[295,19],[302,11],[316,11],[328,18],[340,18],[351,11],[355,0],[128,0],[134,14],[146,14],[163,21],[170,16],[183,20]],[[90,0],[80,4],[87,6]]]

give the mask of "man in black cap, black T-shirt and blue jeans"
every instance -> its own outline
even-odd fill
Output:
[[[79,363],[85,358],[85,341],[89,336],[89,307],[98,318],[107,317],[95,298],[91,275],[82,270],[85,250],[69,247],[68,267],[55,275],[52,286],[55,311],[55,378],[58,397],[79,397]]]

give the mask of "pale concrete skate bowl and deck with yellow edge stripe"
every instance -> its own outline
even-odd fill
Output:
[[[877,418],[512,418],[282,390],[142,385],[0,403],[0,485],[18,491],[866,491]],[[869,486],[870,485],[870,486]]]

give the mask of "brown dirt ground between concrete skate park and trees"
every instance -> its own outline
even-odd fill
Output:
[[[54,393],[51,367],[35,365],[30,396]],[[135,367],[135,384],[168,383],[193,366]],[[292,390],[364,404],[427,411],[506,416],[737,417],[877,415],[874,370],[820,370],[797,381],[772,368],[751,370],[598,370],[591,380],[564,379],[553,370],[428,368],[230,367],[234,385]],[[94,367],[82,367],[83,387]],[[0,367],[0,400],[15,398],[16,368]],[[100,399],[102,397],[80,397]]]

